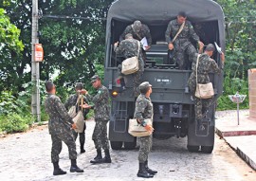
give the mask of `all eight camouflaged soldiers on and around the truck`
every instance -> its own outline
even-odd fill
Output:
[[[182,26],[182,28],[181,28]],[[181,29],[181,31],[180,31]],[[178,36],[175,37],[177,32]],[[141,44],[138,42],[142,38],[146,37],[148,41],[148,46],[142,48]],[[204,44],[199,41],[199,37],[193,30],[191,22],[187,20],[187,15],[185,12],[179,12],[177,18],[172,20],[165,33],[166,41],[168,43],[168,48],[174,50],[174,59],[179,67],[179,69],[184,69],[186,66],[185,55],[188,55],[190,62],[192,62],[192,74],[188,81],[192,99],[195,101],[195,118],[200,120],[204,117],[205,112],[210,106],[211,99],[201,100],[194,96],[196,83],[207,83],[210,82],[209,72],[214,71],[220,73],[223,63],[225,61],[224,53],[221,53],[222,64],[218,67],[217,63],[212,60],[212,56],[215,47],[214,45],[207,45],[204,52],[202,53]],[[192,45],[191,38],[199,45],[199,54],[196,48]],[[144,71],[144,62],[146,59],[145,51],[150,49],[152,45],[152,37],[150,34],[150,29],[146,25],[141,24],[140,21],[135,21],[133,25],[125,28],[124,32],[120,36],[120,43],[117,42],[114,45],[114,51],[118,55],[123,56],[125,59],[137,56],[139,60],[139,70],[134,74],[134,94],[137,97],[136,108],[134,118],[137,118],[137,123],[141,124],[145,129],[153,133],[154,128],[151,124],[148,124],[145,119],[153,118],[153,104],[150,99],[152,93],[152,85],[148,81],[141,83],[142,75]],[[139,50],[139,52],[137,52]],[[199,57],[198,67],[196,68],[197,57]],[[196,73],[197,70],[197,73]],[[119,67],[120,71],[120,67]],[[196,80],[197,74],[197,82]],[[122,76],[120,74],[120,76]],[[110,107],[109,107],[109,92],[108,89],[101,84],[101,78],[95,75],[91,78],[91,82],[94,88],[98,90],[95,96],[91,96],[88,92],[82,89],[82,83],[76,84],[76,94],[71,95],[65,104],[55,95],[56,87],[52,81],[46,81],[46,91],[48,96],[46,98],[46,113],[49,115],[49,134],[52,139],[52,150],[51,150],[51,161],[53,163],[54,175],[65,174],[59,167],[59,154],[62,150],[62,141],[67,145],[69,158],[71,159],[70,172],[83,172],[77,166],[77,152],[75,140],[78,136],[74,129],[76,129],[76,124],[73,122],[72,118],[69,117],[67,110],[76,105],[78,97],[82,94],[85,102],[84,104],[78,106],[79,109],[84,108],[84,117],[88,109],[94,109],[95,113],[95,129],[93,132],[92,139],[95,143],[95,148],[97,155],[90,162],[97,163],[111,163],[111,157],[109,153],[109,142],[107,138],[107,122],[110,119]],[[120,79],[121,90],[125,89],[125,82],[123,78]],[[92,105],[88,104],[93,102]],[[84,123],[85,124],[85,123]],[[81,143],[81,153],[84,153],[84,130],[80,135]],[[151,136],[141,136],[140,137],[140,148],[138,153],[138,163],[139,169],[137,172],[138,177],[151,178],[157,173],[148,167],[148,154],[150,153],[152,147],[152,135]],[[105,156],[102,157],[101,149],[104,150]]]

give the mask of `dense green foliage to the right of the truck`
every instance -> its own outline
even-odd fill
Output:
[[[247,70],[256,67],[256,3],[252,0],[217,0],[226,16],[224,95],[219,109],[235,109],[229,95],[248,94]],[[248,99],[241,104],[248,107]]]

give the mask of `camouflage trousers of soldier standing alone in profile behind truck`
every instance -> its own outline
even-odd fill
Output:
[[[148,155],[152,148],[152,135],[151,136],[141,136],[140,147],[138,151],[138,162],[144,163],[148,160]]]

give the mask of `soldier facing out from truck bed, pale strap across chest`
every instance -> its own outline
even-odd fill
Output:
[[[184,22],[185,25],[183,30],[173,42],[175,35]],[[190,41],[191,38],[199,45],[199,48],[204,46],[204,44],[199,41],[199,37],[193,30],[192,23],[187,20],[187,15],[183,11],[178,13],[176,20],[170,21],[165,32],[165,38],[166,42],[168,43],[168,48],[170,50],[174,49],[174,61],[178,64],[179,69],[190,68],[185,62],[185,55],[188,55],[190,61],[192,62],[191,57],[197,52]]]

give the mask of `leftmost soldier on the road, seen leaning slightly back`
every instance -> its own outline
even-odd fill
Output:
[[[56,87],[52,81],[46,81],[46,91],[48,93],[45,106],[49,115],[48,129],[51,135],[51,162],[53,163],[53,175],[65,174],[59,167],[59,154],[62,152],[62,141],[68,147],[69,159],[71,159],[70,172],[83,172],[77,166],[76,143],[73,138],[72,129],[76,129],[76,124],[64,108],[64,104],[57,97]]]

